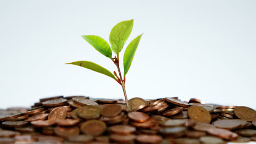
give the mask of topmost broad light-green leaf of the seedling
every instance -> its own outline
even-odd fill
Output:
[[[133,20],[121,21],[115,25],[109,35],[109,42],[114,53],[119,53],[131,34]]]

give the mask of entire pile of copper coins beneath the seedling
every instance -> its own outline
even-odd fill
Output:
[[[0,143],[226,143],[256,141],[256,112],[191,98],[40,99],[0,110]]]

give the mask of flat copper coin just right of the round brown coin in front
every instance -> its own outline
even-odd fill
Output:
[[[119,135],[130,135],[131,133],[136,131],[135,127],[131,127],[130,125],[115,125],[109,127],[109,131],[111,133],[119,134]]]

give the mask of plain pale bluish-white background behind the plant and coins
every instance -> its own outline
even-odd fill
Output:
[[[116,70],[80,35],[109,42],[114,25],[134,19],[124,49],[144,34],[126,75],[129,99],[198,98],[255,109],[255,7],[234,0],[0,1],[0,107],[54,95],[123,98],[113,79],[65,63]]]

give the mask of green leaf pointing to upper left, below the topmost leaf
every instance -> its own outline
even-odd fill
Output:
[[[91,44],[102,55],[112,58],[112,51],[106,40],[97,35],[82,35],[89,44]]]

